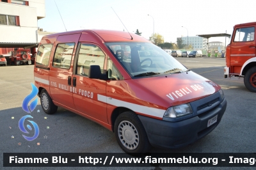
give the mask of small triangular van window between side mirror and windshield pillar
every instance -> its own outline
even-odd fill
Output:
[[[108,79],[113,81],[120,81],[124,80],[122,74],[117,70],[116,66],[114,65],[113,61],[108,57]]]

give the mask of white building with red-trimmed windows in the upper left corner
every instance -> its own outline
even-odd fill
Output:
[[[45,0],[0,0],[0,53],[1,48],[36,47],[37,20],[44,17]]]

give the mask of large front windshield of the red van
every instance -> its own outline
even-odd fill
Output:
[[[131,77],[180,73],[188,70],[152,43],[109,42],[106,45]]]

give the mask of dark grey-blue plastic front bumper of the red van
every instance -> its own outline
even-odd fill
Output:
[[[218,126],[226,110],[227,100],[209,111],[192,118],[170,122],[138,115],[148,135],[150,144],[157,148],[180,148],[194,143]],[[209,119],[218,115],[217,122],[207,127]]]

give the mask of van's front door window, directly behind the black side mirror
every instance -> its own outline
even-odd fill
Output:
[[[88,76],[91,65],[99,65],[103,73],[104,59],[105,54],[97,45],[82,43],[77,59],[76,74]]]

